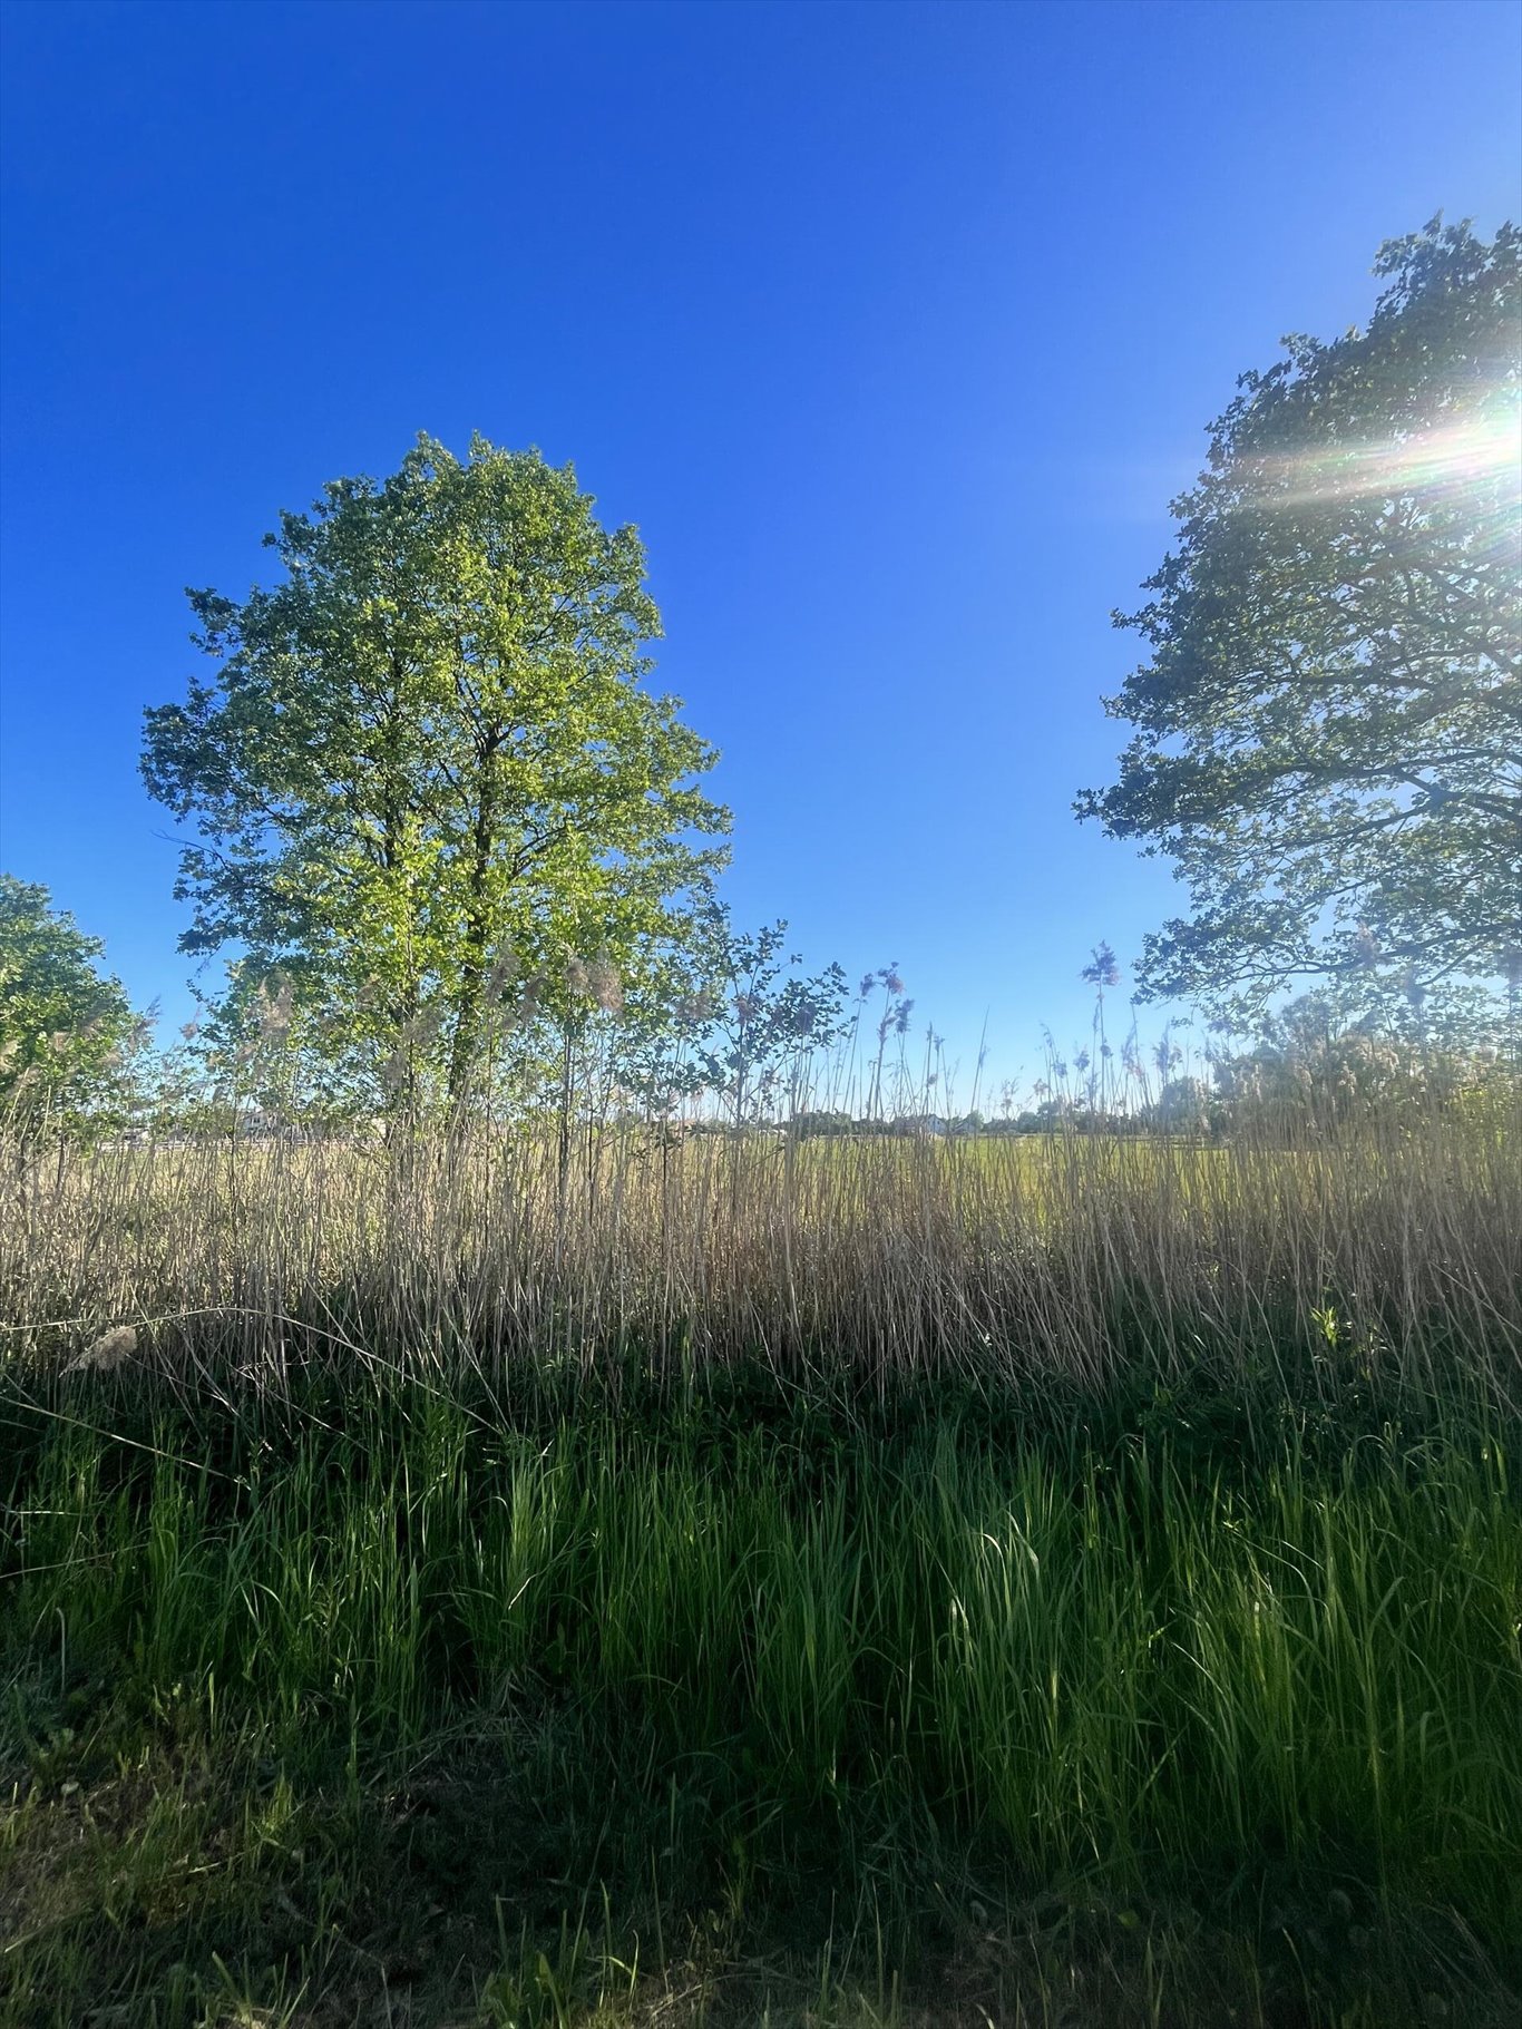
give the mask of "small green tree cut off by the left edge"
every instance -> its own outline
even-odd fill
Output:
[[[144,1025],[101,950],[45,887],[0,874],[0,1114],[77,1130],[124,1100]]]

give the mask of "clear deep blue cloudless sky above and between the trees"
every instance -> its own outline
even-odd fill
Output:
[[[1080,828],[1234,375],[1380,239],[1518,213],[1522,12],[4,8],[0,864],[187,1012],[142,708],[282,505],[414,432],[637,521],[737,915],[970,1061],[1177,905]],[[966,1083],[966,1079],[964,1079]]]

